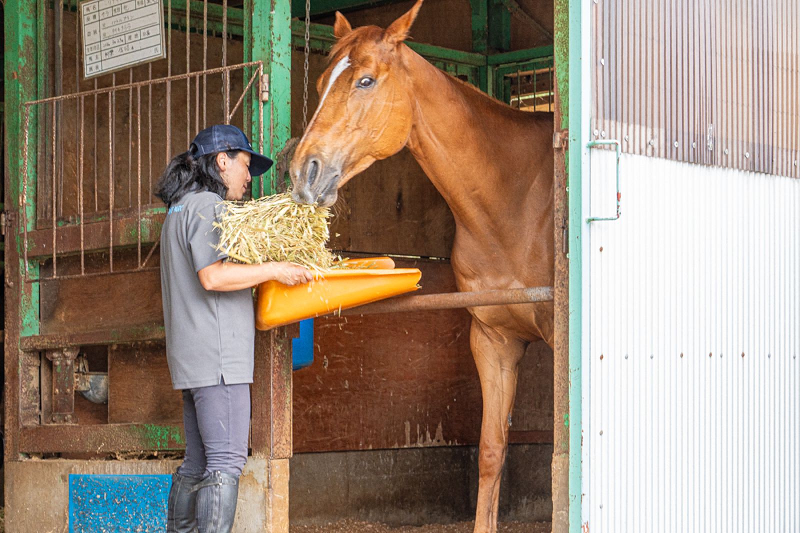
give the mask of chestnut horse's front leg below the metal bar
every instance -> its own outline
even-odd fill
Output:
[[[474,533],[497,531],[500,475],[508,448],[508,419],[514,407],[519,361],[525,344],[472,320],[470,347],[478,367],[483,397],[478,453],[478,506]]]

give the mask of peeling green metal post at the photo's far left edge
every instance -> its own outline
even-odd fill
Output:
[[[23,214],[25,210],[28,229],[32,229],[35,223],[36,206],[34,194],[28,194],[26,206],[21,206],[19,199],[22,198],[22,170],[25,137],[22,132],[25,130],[25,106],[24,102],[35,100],[39,94],[38,76],[40,72],[38,64],[38,2],[30,0],[8,0],[6,2],[5,14],[5,107],[6,107],[6,206],[9,211],[14,213],[14,219],[18,228],[22,230]],[[46,65],[46,63],[45,63]],[[42,87],[41,90],[44,90]],[[28,143],[27,143],[27,178],[29,193],[36,190],[36,164],[37,164],[37,139],[38,139],[38,120],[35,112],[30,112],[28,118]],[[22,262],[22,231],[11,232],[8,236],[13,238],[12,242],[7,243],[7,249],[13,248],[18,255],[18,265],[11,265],[6,261],[9,279],[18,281],[19,272],[25,270]],[[38,277],[38,271],[34,265],[29,269],[30,274]],[[17,292],[19,305],[20,328],[19,335],[37,335],[39,330],[38,283],[14,284],[14,291]],[[14,306],[17,298],[7,301],[7,306]],[[11,314],[14,315],[13,313]],[[7,326],[6,326],[7,327]]]

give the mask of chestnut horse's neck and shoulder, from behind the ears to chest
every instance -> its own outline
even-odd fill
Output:
[[[403,50],[416,98],[408,146],[458,231],[495,241],[514,234],[530,217],[530,197],[551,195],[551,178],[549,184],[525,178],[536,174],[532,147],[541,126]]]

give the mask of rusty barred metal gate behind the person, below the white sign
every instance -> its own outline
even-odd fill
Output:
[[[252,74],[247,75],[248,70]],[[235,74],[245,74],[245,78],[249,79],[244,90],[237,91],[240,94],[234,93],[237,100],[231,107],[231,80]],[[22,273],[25,282],[33,283],[41,279],[65,276],[124,274],[147,268],[158,246],[159,228],[165,213],[162,202],[152,193],[154,178],[158,178],[159,169],[164,168],[174,155],[173,150],[170,150],[174,146],[171,142],[172,114],[154,116],[154,92],[157,96],[162,93],[166,97],[166,107],[169,108],[172,87],[186,82],[188,147],[194,132],[208,125],[209,117],[220,113],[220,122],[228,124],[234,118],[239,118],[238,126],[244,127],[242,102],[246,97],[260,98],[260,87],[255,82],[262,76],[262,62],[247,62],[26,102],[22,120],[25,138],[22,153],[22,196],[19,199],[25,265]],[[130,77],[133,78],[132,74]],[[202,84],[207,87],[209,78],[218,82],[221,87],[222,98],[219,98],[220,102],[215,102],[217,106],[221,106],[218,113],[208,113],[205,91],[203,104],[199,105],[200,86]],[[194,117],[190,107],[193,98]],[[143,100],[146,102],[144,113]],[[122,144],[118,138],[120,132],[115,131],[119,102],[122,102],[123,112],[127,111],[124,117],[128,122],[127,134],[124,130],[121,132],[123,137],[126,136],[122,139],[127,145],[122,149],[126,154],[118,154],[118,145]],[[31,182],[28,179],[30,154],[27,140],[30,134],[30,114],[33,113],[49,118],[50,126],[46,135],[42,135],[46,161],[40,165],[42,172],[37,173],[38,179]],[[73,117],[77,122],[77,135],[63,129],[59,132],[58,123]],[[87,122],[90,122],[88,128]],[[258,106],[259,132],[263,132],[263,123],[263,108]],[[154,138],[154,131],[166,132],[166,151],[160,154],[159,150],[154,150],[154,143],[158,143],[158,138]],[[174,133],[176,137],[180,134],[182,131]],[[263,151],[263,134],[254,141],[258,149]],[[157,153],[154,154],[154,151]],[[65,158],[65,153],[72,154],[73,157]],[[71,168],[70,165],[65,167],[65,159],[70,159],[70,163],[73,163]],[[256,193],[263,194],[264,183],[261,180],[256,180],[256,183]],[[37,206],[35,221],[28,220],[26,215],[26,206],[31,202]],[[30,231],[29,226],[33,228]],[[153,244],[142,258],[142,244],[150,242]],[[136,261],[124,262],[123,266],[119,266],[118,262],[115,268],[114,250],[134,245]],[[96,253],[98,250],[104,252],[104,264],[94,265],[87,271],[86,254]],[[78,254],[79,264],[71,269],[67,266],[67,273],[63,273],[62,269],[59,276],[59,256],[75,254]],[[41,266],[32,267],[30,261],[40,262]],[[150,268],[158,269],[158,266]]]

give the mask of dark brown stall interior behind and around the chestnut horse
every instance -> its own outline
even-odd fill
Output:
[[[292,136],[299,137],[304,6],[294,3],[292,14],[299,20],[293,24]],[[318,2],[317,9],[322,3],[337,4]],[[342,13],[353,27],[386,27],[414,5],[413,1],[381,3]],[[553,112],[552,3],[509,2],[522,10],[522,16],[512,15],[500,2],[488,3],[494,18],[490,15],[486,53],[538,48],[528,57],[540,56],[537,62],[498,66],[494,94],[514,107]],[[324,37],[334,23],[332,10],[319,14],[314,10],[311,2],[309,118],[318,102],[316,80],[327,64]],[[472,52],[470,0],[426,0],[410,35],[414,43]],[[478,69],[460,63],[458,54],[450,55],[450,62],[428,58],[479,85]],[[518,56],[524,57],[524,53]],[[449,261],[452,214],[407,149],[375,162],[348,182],[340,190],[334,213],[330,244],[342,256],[389,254],[398,266],[421,269],[422,293],[456,291]],[[294,372],[293,525],[341,519],[399,525],[473,518],[481,391],[469,327],[466,310],[314,321],[314,362]],[[514,407],[501,521],[550,521],[553,383],[553,351],[543,342],[531,344],[522,360]]]

